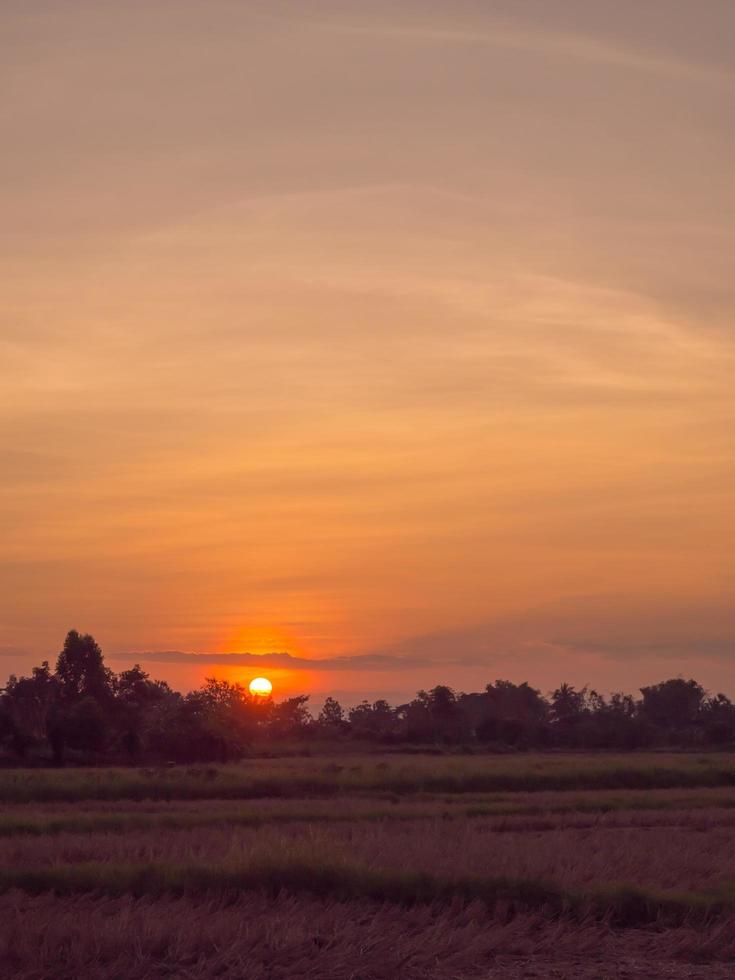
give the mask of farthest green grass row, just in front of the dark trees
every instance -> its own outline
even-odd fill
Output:
[[[735,786],[735,764],[601,765],[498,769],[458,766],[456,772],[424,767],[357,772],[324,767],[304,774],[282,770],[265,776],[247,765],[192,773],[163,770],[10,770],[0,772],[0,802],[54,803],[81,800],[205,800],[329,798],[341,794],[495,793],[574,790],[696,789]]]

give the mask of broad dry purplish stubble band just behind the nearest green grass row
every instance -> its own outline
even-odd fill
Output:
[[[661,814],[654,814],[661,817]],[[672,818],[676,818],[672,814]],[[566,816],[540,827],[522,818],[400,822],[320,820],[270,826],[130,829],[126,833],[60,832],[0,840],[0,866],[39,868],[77,862],[231,865],[257,861],[298,865],[358,864],[386,871],[440,876],[482,875],[553,881],[565,889],[603,882],[712,891],[735,882],[735,826],[713,815],[707,827],[690,822],[622,821],[620,813],[582,826]],[[663,830],[665,829],[665,832]]]

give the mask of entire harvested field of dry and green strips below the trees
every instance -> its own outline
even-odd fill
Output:
[[[0,800],[3,975],[735,974],[727,755],[6,770]]]

